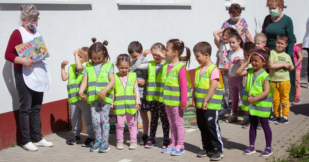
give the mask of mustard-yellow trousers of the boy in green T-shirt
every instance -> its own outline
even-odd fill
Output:
[[[272,81],[273,83],[273,111],[275,116],[280,117],[280,103],[282,106],[282,116],[288,117],[290,111],[289,93],[291,89],[290,81]]]

